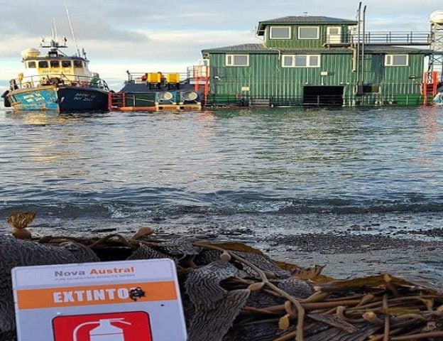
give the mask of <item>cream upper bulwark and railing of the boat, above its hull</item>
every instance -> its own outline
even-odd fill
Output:
[[[33,75],[20,77],[10,81],[11,90],[29,89],[44,85],[53,86],[77,86],[77,87],[95,87],[103,90],[109,90],[108,85],[102,78],[86,75],[69,75],[63,73],[54,73],[46,75]]]

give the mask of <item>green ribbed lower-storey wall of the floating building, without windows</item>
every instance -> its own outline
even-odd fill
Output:
[[[304,86],[323,85],[343,86],[344,98],[354,100],[356,72],[352,70],[351,53],[324,53],[320,67],[282,67],[281,55],[275,51],[250,53],[248,67],[226,67],[225,56],[225,53],[209,53],[213,97],[235,94],[255,98],[302,97]],[[364,83],[379,85],[380,92],[368,94],[362,101],[390,100],[398,95],[420,96],[419,82],[424,70],[424,55],[410,54],[408,66],[385,67],[384,58],[384,54],[366,55]],[[320,72],[327,72],[327,75],[321,75]],[[414,80],[410,76],[418,78]],[[245,91],[246,87],[249,91]]]

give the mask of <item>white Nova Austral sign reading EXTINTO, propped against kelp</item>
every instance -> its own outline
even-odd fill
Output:
[[[18,341],[185,341],[170,259],[12,270]]]

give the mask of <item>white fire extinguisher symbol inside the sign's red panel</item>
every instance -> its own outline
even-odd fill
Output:
[[[72,332],[72,340],[79,341],[77,339],[77,332],[85,325],[97,325],[96,328],[89,330],[89,341],[126,341],[123,329],[111,325],[111,322],[131,325],[131,323],[126,322],[124,318],[105,318],[103,320],[85,322],[77,325],[77,328]]]

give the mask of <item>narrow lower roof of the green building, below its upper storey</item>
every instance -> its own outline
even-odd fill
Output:
[[[230,45],[222,48],[207,48],[202,53],[352,53],[349,47],[344,48],[266,48],[263,44]],[[366,53],[408,53],[429,55],[430,50],[404,48],[401,46],[366,45]]]

